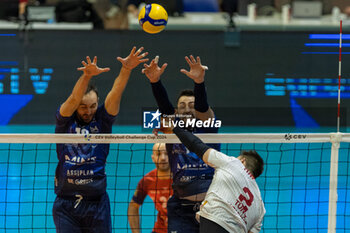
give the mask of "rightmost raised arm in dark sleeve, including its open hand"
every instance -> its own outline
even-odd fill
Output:
[[[180,71],[194,81],[194,108],[196,110],[196,118],[205,121],[208,118],[214,118],[214,112],[209,107],[207,101],[207,92],[204,84],[205,70],[207,66],[201,64],[200,57],[197,60],[191,55],[190,58],[185,57],[187,64],[190,66],[190,71],[181,69]]]

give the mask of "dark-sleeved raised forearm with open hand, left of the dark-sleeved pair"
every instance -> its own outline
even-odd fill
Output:
[[[157,101],[158,108],[162,114],[171,115],[175,113],[175,109],[171,104],[168,94],[160,81],[160,76],[163,74],[165,68],[168,66],[164,63],[162,67],[158,66],[159,57],[156,56],[149,65],[144,64],[142,73],[146,75],[152,86],[152,93]]]

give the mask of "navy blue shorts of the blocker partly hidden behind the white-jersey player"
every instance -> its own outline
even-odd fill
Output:
[[[196,212],[201,202],[193,202],[170,197],[168,209],[168,233],[196,233],[199,232],[199,223]]]

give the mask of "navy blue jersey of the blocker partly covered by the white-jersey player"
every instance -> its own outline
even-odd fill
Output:
[[[218,133],[218,128],[195,128],[193,133]],[[220,150],[220,144],[208,144]],[[177,197],[192,196],[208,190],[214,175],[214,168],[204,163],[183,144],[166,145],[170,169],[173,174],[173,190]]]

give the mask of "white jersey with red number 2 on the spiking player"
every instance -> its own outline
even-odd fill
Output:
[[[266,211],[253,175],[239,159],[214,149],[208,162],[215,174],[198,214],[230,233],[258,233]]]

